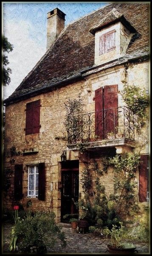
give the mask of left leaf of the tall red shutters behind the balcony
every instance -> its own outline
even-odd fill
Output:
[[[95,90],[95,135],[103,138],[103,95],[102,95],[102,87]]]

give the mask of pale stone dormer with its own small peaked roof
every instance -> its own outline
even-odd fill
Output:
[[[113,8],[102,20],[90,28],[95,35],[95,65],[105,64],[126,55],[136,29],[124,15]]]

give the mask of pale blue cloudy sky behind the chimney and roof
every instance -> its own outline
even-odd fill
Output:
[[[59,8],[65,26],[110,2],[3,2],[3,35],[14,46],[8,53],[11,82],[3,87],[8,98],[46,52],[47,12]]]

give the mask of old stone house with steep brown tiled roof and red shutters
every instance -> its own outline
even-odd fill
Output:
[[[85,163],[102,165],[102,157],[136,147],[132,113],[118,91],[124,81],[148,89],[149,4],[112,3],[67,27],[58,8],[47,19],[47,52],[4,100],[4,168],[12,171],[4,206],[26,208],[30,200],[60,222],[77,211]],[[82,99],[83,110],[66,126],[69,99]],[[140,202],[148,199],[148,155],[147,143],[136,177]],[[113,191],[112,169],[102,183]]]

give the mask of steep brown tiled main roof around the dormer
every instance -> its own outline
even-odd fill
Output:
[[[149,4],[113,3],[84,16],[65,28],[36,67],[25,77],[14,93],[4,102],[43,87],[78,77],[81,71],[94,66],[95,37],[90,29],[97,26],[115,8],[136,29],[127,54],[148,52]]]

